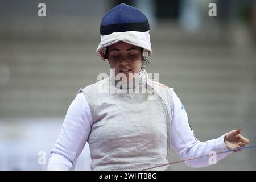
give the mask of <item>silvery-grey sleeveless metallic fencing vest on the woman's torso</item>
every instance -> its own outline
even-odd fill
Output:
[[[168,163],[172,88],[152,81],[146,71],[140,79],[133,92],[151,92],[113,93],[110,88],[122,89],[115,88],[110,77],[81,89],[93,118],[88,138],[92,170],[141,170]]]

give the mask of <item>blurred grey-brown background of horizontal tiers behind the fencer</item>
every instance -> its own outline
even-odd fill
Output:
[[[38,16],[40,2],[46,17]],[[204,142],[240,128],[256,144],[256,1],[0,0],[0,170],[47,169],[77,91],[109,73],[95,51],[102,16],[121,2],[150,20],[147,72],[174,88],[196,137]],[[208,15],[211,2],[217,17]],[[255,170],[255,154],[248,149],[206,168],[171,168]],[[86,145],[76,170],[89,169]]]

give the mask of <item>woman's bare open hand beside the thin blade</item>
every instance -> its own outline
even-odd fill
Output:
[[[225,136],[225,145],[228,148],[228,150],[236,149],[239,147],[245,147],[246,144],[249,143],[249,139],[243,137],[240,135],[241,129],[238,130],[232,130]],[[241,151],[236,150],[234,152]]]

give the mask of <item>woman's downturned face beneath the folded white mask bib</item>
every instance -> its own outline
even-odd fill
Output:
[[[129,73],[141,71],[142,51],[138,46],[118,42],[109,46],[108,60],[110,68],[115,69],[115,75],[123,73],[129,78]]]

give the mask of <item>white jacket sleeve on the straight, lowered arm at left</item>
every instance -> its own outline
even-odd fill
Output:
[[[51,151],[48,170],[73,170],[92,127],[92,115],[84,93],[78,93],[68,108],[63,126]]]

